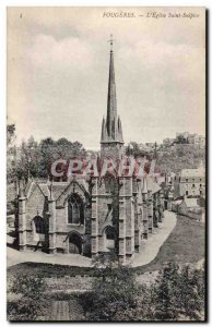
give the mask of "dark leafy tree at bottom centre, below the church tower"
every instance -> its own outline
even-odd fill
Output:
[[[133,271],[114,258],[98,257],[92,293],[83,300],[89,320],[137,320],[140,313],[140,287]]]

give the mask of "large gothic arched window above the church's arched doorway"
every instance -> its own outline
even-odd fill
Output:
[[[84,223],[84,205],[82,198],[76,193],[71,194],[68,201],[68,222]]]

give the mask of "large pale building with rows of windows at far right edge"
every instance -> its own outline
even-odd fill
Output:
[[[175,179],[175,197],[203,196],[205,189],[204,167],[201,162],[198,169],[182,169]]]

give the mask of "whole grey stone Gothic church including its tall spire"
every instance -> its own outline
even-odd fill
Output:
[[[114,51],[110,50],[107,116],[103,118],[101,159],[125,156],[117,114]],[[106,174],[72,177],[67,182],[28,180],[20,187],[20,251],[115,252],[125,263],[140,252],[142,239],[163,219],[164,195],[155,178]]]

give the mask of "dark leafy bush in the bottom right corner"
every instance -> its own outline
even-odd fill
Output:
[[[204,306],[204,272],[168,264],[154,283],[155,319],[199,320]]]

